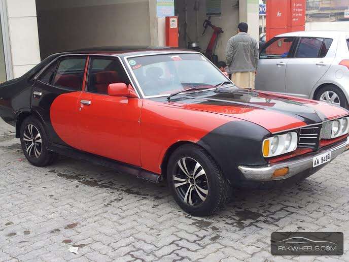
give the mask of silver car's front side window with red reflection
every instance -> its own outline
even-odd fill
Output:
[[[259,58],[273,59],[273,58],[287,58],[290,56],[290,49],[294,37],[281,37],[271,40],[263,47]]]

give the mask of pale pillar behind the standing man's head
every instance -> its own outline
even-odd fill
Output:
[[[248,23],[249,34],[259,40],[259,1],[244,0],[239,1],[240,22]]]

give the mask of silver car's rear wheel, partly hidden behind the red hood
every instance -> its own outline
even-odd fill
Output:
[[[328,102],[329,98],[331,100],[334,99],[334,103]],[[349,105],[343,91],[335,85],[329,84],[321,87],[314,95],[314,99],[322,102],[336,104],[343,108],[349,109]]]

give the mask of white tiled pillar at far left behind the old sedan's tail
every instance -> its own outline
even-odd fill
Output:
[[[40,62],[35,0],[7,0],[9,38],[14,78]]]

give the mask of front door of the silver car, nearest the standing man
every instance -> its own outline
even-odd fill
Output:
[[[255,79],[258,90],[286,92],[286,65],[290,60],[295,37],[276,37],[262,48]]]

